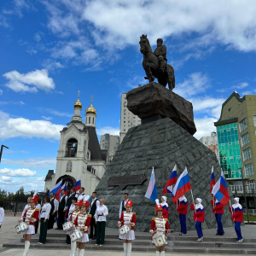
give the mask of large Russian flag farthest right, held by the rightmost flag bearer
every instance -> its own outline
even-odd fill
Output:
[[[230,195],[227,187],[227,183],[224,178],[224,173],[221,170],[221,176],[218,182],[212,189],[212,195],[222,204],[224,207],[230,202]]]

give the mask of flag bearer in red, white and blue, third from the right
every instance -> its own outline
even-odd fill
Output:
[[[201,224],[205,221],[205,209],[201,204],[201,198],[196,198],[195,202],[190,205],[190,210],[194,211],[195,230],[197,231],[198,239],[196,241],[203,241],[204,236],[201,229]]]

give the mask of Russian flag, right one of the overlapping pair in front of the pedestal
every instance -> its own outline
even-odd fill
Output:
[[[177,183],[173,189],[172,192],[172,201],[175,203],[182,195],[187,193],[191,189],[190,186],[190,179],[189,179],[189,173],[187,170],[187,167],[185,167],[185,170],[181,174],[180,177],[177,179]]]

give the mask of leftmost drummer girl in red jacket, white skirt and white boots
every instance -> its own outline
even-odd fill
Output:
[[[32,235],[35,234],[35,222],[38,221],[38,216],[39,216],[39,209],[36,208],[37,203],[38,203],[38,195],[35,195],[30,201],[30,207],[26,209],[26,212],[24,212],[24,215],[22,216],[22,218],[19,219],[19,223],[24,221],[28,225],[28,229],[21,232],[25,240],[25,249],[24,249],[23,256],[27,255],[30,247],[30,241],[31,241]]]

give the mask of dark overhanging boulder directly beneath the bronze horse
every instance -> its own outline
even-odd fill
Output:
[[[160,118],[170,118],[191,135],[195,134],[192,103],[161,84],[145,84],[130,90],[126,98],[127,108],[142,119],[142,124]]]

